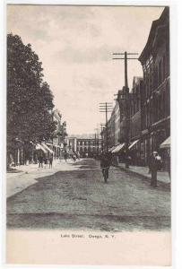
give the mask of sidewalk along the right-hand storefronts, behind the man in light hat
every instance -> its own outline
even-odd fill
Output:
[[[142,176],[143,178],[151,179],[151,174],[148,174],[149,168],[142,166],[133,166],[130,165],[129,169],[126,169],[125,163],[119,163],[117,167],[124,169],[125,171],[130,171],[135,175]],[[169,173],[166,171],[158,171],[158,181],[169,184],[170,178]]]

